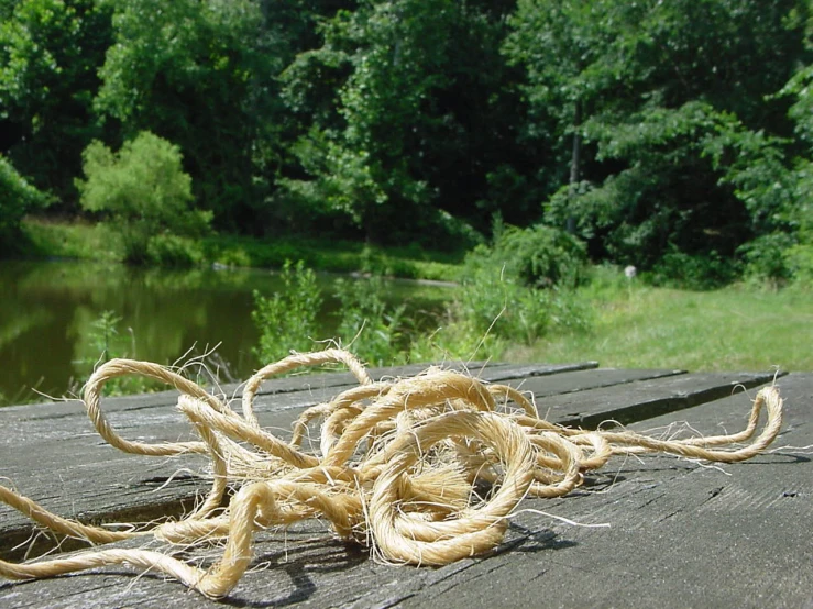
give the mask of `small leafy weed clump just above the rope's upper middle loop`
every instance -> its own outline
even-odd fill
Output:
[[[337,335],[341,344],[370,365],[399,363],[406,307],[387,304],[381,278],[339,279],[336,296],[339,299],[336,314],[340,320]]]

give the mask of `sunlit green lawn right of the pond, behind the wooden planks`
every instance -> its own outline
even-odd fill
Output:
[[[810,290],[738,285],[689,291],[612,279],[608,273],[581,290],[592,309],[590,331],[509,348],[505,358],[694,372],[813,370]]]

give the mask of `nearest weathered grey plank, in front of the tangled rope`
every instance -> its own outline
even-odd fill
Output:
[[[805,607],[813,602],[813,375],[778,381],[787,400],[777,451],[718,468],[672,457],[618,459],[582,490],[524,507],[609,529],[573,528],[524,512],[488,557],[430,569],[376,564],[319,528],[268,535],[234,590],[238,607]],[[704,433],[739,429],[745,394],[681,419]],[[634,427],[649,429],[670,414]],[[806,450],[810,454],[810,449]],[[176,583],[124,568],[0,585],[0,606],[216,607]]]

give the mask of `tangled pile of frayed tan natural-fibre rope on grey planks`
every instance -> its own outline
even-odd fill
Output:
[[[263,380],[336,362],[350,368],[358,387],[306,410],[288,443],[260,427],[253,400]],[[180,391],[178,409],[200,441],[145,444],[121,438],[101,411],[100,394],[106,381],[132,374]],[[129,359],[99,367],[85,387],[85,405],[99,434],[121,451],[207,454],[212,487],[206,500],[182,520],[133,531],[59,518],[1,486],[0,500],[51,531],[94,544],[141,535],[184,546],[226,540],[223,554],[205,571],[155,551],[85,551],[35,563],[0,561],[0,575],[29,579],[129,564],[163,572],[215,598],[229,594],[249,567],[257,530],[319,517],[341,538],[371,544],[386,561],[442,565],[495,547],[526,496],[565,495],[582,483],[585,470],[602,467],[614,455],[662,452],[744,461],[773,441],[782,421],[779,392],[766,387],[757,395],[747,428],[733,435],[658,440],[625,431],[583,431],[540,419],[516,389],[455,372],[430,368],[411,378],[373,383],[350,353],[339,350],[295,354],[261,369],[245,386],[242,416],[167,368]],[[768,420],[754,438],[762,408]],[[317,420],[319,450],[307,452],[301,441]],[[746,441],[750,443],[732,446]],[[234,495],[222,508],[229,488]]]

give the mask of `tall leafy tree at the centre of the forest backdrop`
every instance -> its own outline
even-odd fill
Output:
[[[337,13],[322,46],[283,74],[306,125],[294,147],[305,175],[283,182],[292,196],[371,240],[437,243],[442,212],[487,228],[490,181],[510,181],[518,156],[499,54],[508,10],[399,0]],[[527,214],[519,202],[507,213]]]

